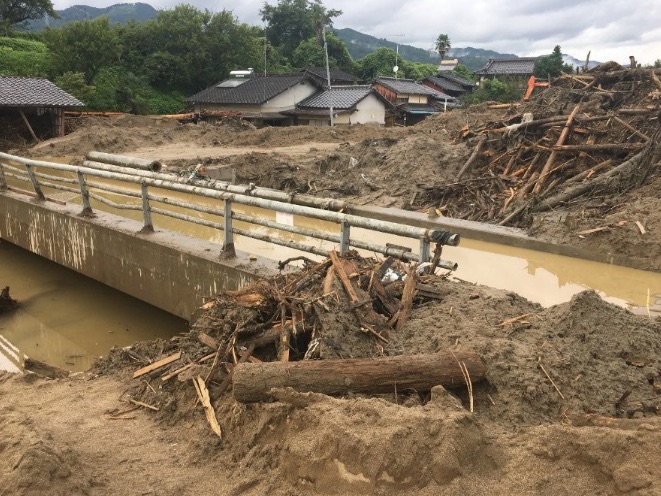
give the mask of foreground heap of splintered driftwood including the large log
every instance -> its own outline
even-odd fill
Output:
[[[397,345],[416,305],[447,296],[444,277],[392,258],[329,255],[208,301],[191,332],[157,361],[123,350],[146,363],[133,377],[163,385],[191,378],[212,427],[211,401],[230,387],[242,402],[277,398],[283,388],[396,395],[441,385],[468,387],[472,397],[472,383],[486,372],[475,353],[403,355]],[[133,403],[159,408],[140,398]]]

